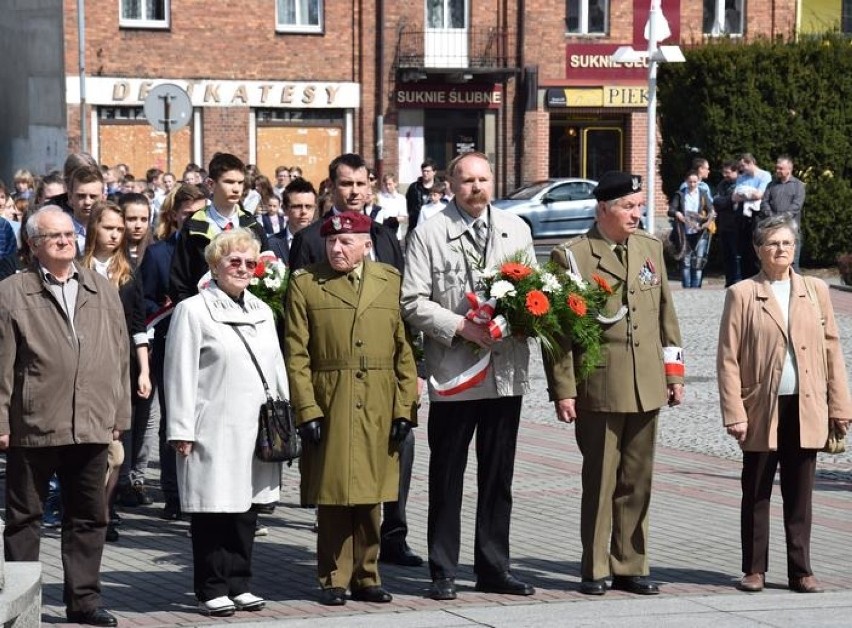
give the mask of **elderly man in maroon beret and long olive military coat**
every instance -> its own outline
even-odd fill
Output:
[[[416,423],[417,373],[399,309],[401,276],[369,259],[369,216],[322,225],[326,262],[297,270],[286,363],[302,435],[302,501],[317,505],[320,603],[390,602],[381,586],[380,503],[396,499],[399,446]]]

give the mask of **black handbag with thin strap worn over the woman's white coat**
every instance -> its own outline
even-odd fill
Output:
[[[269,392],[269,384],[266,383],[266,378],[263,376],[257,358],[254,357],[254,352],[239,328],[235,326],[234,331],[237,332],[248,350],[266,393],[266,401],[261,404],[258,414],[254,455],[263,462],[293,464],[293,461],[302,455],[302,439],[299,438],[299,433],[296,431],[296,417],[293,406],[287,399],[272,398],[272,394]]]

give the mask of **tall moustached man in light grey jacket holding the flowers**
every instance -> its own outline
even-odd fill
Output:
[[[430,597],[456,597],[461,503],[467,451],[476,433],[477,506],[474,571],[477,591],[532,595],[509,571],[512,476],[522,395],[529,391],[531,340],[499,342],[488,326],[468,320],[467,292],[483,273],[521,253],[535,259],[529,227],[491,205],[494,176],[482,153],[454,159],[448,173],[455,198],[409,235],[402,311],[425,336],[429,380]],[[484,379],[453,394],[444,384],[489,356]]]

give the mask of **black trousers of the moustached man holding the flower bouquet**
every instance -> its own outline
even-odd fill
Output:
[[[429,407],[429,572],[455,578],[467,451],[476,432],[473,569],[481,579],[509,570],[512,476],[521,397],[432,402]]]

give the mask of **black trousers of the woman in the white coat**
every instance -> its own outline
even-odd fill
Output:
[[[192,513],[192,567],[195,597],[207,602],[246,593],[257,513]]]

